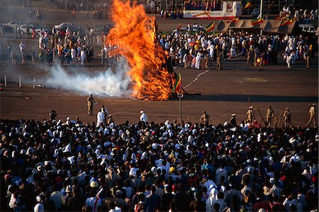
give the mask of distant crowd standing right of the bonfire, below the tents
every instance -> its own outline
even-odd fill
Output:
[[[296,61],[305,60],[310,67],[318,45],[315,35],[259,35],[234,32],[211,35],[205,30],[192,32],[201,26],[188,24],[186,32],[179,29],[168,34],[158,34],[159,45],[169,52],[174,65],[195,69],[208,69],[211,62],[223,68],[223,61],[243,57],[247,67],[262,69],[263,65],[278,64],[278,57],[284,59],[287,67]],[[202,27],[203,28],[203,27]]]

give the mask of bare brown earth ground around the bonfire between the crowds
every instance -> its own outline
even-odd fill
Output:
[[[8,12],[8,7],[0,6],[1,22],[13,19],[23,20],[27,16],[27,10],[20,7],[11,7],[14,13]],[[70,14],[64,11],[43,10],[43,24],[50,27],[54,23],[73,22],[76,24],[88,23],[96,25],[103,23],[101,20],[86,19],[84,13],[78,13],[75,21]],[[59,16],[54,14],[59,13]],[[47,18],[46,15],[47,14]],[[55,19],[53,19],[53,17]],[[34,21],[33,21],[34,22]],[[186,24],[188,20],[181,20]],[[197,21],[206,24],[207,21]],[[110,21],[105,21],[110,23]],[[176,28],[179,20],[165,20],[159,18],[159,29]],[[193,21],[191,22],[193,23]],[[41,23],[42,24],[42,23]],[[183,25],[182,25],[183,26]],[[184,26],[183,26],[184,27]],[[12,35],[0,35],[2,45],[11,43],[16,49],[19,40],[26,43],[26,55],[30,55],[30,50],[36,47],[37,40],[32,40],[26,36],[18,40]],[[94,65],[77,67],[82,72],[93,74],[106,67],[99,65],[96,48],[96,62]],[[28,65],[11,66],[9,62],[0,64],[0,83],[4,82],[4,75],[8,77],[9,84],[0,92],[0,115],[1,118],[25,118],[43,120],[48,118],[51,109],[57,111],[57,118],[65,120],[67,116],[75,118],[79,116],[82,121],[96,121],[96,116],[86,116],[86,97],[77,94],[76,91],[65,91],[60,89],[33,89],[33,77],[43,77],[45,72],[40,65],[33,67],[30,61]],[[282,62],[282,61],[280,61]],[[203,110],[212,116],[212,123],[218,124],[229,121],[230,113],[237,113],[237,122],[246,118],[248,98],[254,108],[258,107],[265,116],[267,105],[272,105],[276,117],[284,112],[284,108],[289,107],[292,113],[293,125],[305,126],[308,119],[308,108],[313,102],[318,102],[318,57],[311,62],[311,68],[306,69],[304,62],[298,62],[291,69],[283,65],[269,65],[264,67],[263,72],[258,72],[255,68],[246,68],[244,60],[238,58],[235,62],[225,62],[225,69],[216,72],[216,69],[195,70],[181,68],[182,87],[193,82],[186,87],[189,93],[200,93],[201,95],[185,95],[182,100],[182,118],[184,121],[197,122]],[[178,72],[179,69],[176,69]],[[18,77],[22,78],[23,87],[18,88]],[[121,83],[121,82],[118,82]],[[147,113],[149,121],[163,122],[178,120],[179,102],[171,101],[140,101],[128,97],[123,98],[101,98],[95,97],[98,102],[94,106],[96,113],[104,104],[108,111],[113,114],[116,123],[123,123],[128,120],[137,122],[140,109]],[[257,119],[262,122],[257,110],[254,110]],[[282,123],[281,119],[281,123]]]

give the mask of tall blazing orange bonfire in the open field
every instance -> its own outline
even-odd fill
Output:
[[[130,65],[133,96],[143,100],[165,100],[172,96],[174,73],[167,69],[167,52],[157,44],[155,18],[142,5],[114,0],[111,29],[106,42],[116,45],[115,54]]]

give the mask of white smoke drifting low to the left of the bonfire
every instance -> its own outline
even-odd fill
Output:
[[[49,70],[44,82],[46,87],[66,89],[78,94],[95,94],[96,96],[128,96],[131,91],[128,86],[131,82],[128,76],[127,62],[118,63],[114,72],[111,68],[93,75],[74,71],[67,72],[61,65]]]

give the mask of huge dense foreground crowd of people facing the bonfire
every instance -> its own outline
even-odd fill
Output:
[[[1,211],[318,210],[317,128],[237,125],[235,113],[211,125],[205,111],[201,123],[140,111],[119,124],[99,113],[97,123],[56,111],[1,120]]]

